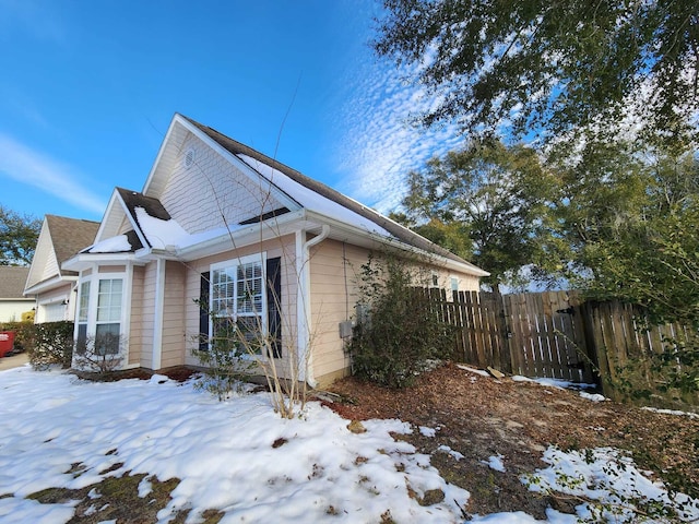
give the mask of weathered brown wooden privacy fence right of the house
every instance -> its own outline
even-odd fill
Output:
[[[463,362],[532,378],[597,382],[614,398],[623,396],[618,384],[625,381],[637,391],[656,392],[661,379],[648,357],[697,336],[678,324],[644,325],[638,308],[582,302],[574,291],[454,291],[448,297],[430,289],[427,296],[440,319],[454,327],[455,353]],[[684,402],[699,404],[699,397],[685,395]]]

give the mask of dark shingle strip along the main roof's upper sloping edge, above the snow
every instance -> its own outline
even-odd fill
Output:
[[[191,118],[185,117],[190,123],[192,123],[193,126],[196,126],[198,129],[200,129],[204,134],[206,134],[210,139],[212,139],[214,142],[216,142],[218,145],[221,145],[222,147],[224,147],[226,151],[228,151],[229,153],[234,154],[234,155],[246,155],[249,156],[251,158],[254,158],[256,160],[265,164],[281,172],[283,172],[284,175],[286,175],[288,178],[291,178],[292,180],[294,180],[297,183],[300,183],[301,186],[304,186],[307,189],[310,189],[311,191],[315,191],[316,193],[320,194],[321,196],[324,196],[333,202],[335,202],[336,204],[340,204],[351,211],[353,211],[354,213],[358,214],[359,216],[367,218],[371,222],[374,222],[375,224],[377,224],[378,226],[382,227],[383,229],[386,229],[387,231],[389,231],[393,237],[398,238],[399,240],[401,240],[402,242],[405,242],[410,246],[413,246],[415,248],[422,249],[424,251],[427,252],[431,252],[431,253],[436,253],[439,254],[441,257],[445,257],[449,260],[453,260],[457,262],[460,262],[462,264],[467,264],[467,265],[472,265],[470,262],[465,261],[464,259],[462,259],[461,257],[458,257],[455,254],[453,254],[451,251],[437,246],[436,243],[427,240],[425,237],[422,237],[419,235],[417,235],[414,231],[411,231],[410,229],[407,229],[406,227],[401,226],[400,224],[391,221],[390,218],[381,215],[380,213],[374,211],[370,207],[367,207],[365,205],[362,205],[360,203],[356,202],[355,200],[352,200],[347,196],[345,196],[344,194],[340,193],[339,191],[335,191],[334,189],[325,186],[322,182],[319,182],[318,180],[313,180],[312,178],[307,177],[306,175],[297,171],[296,169],[293,169],[284,164],[282,164],[281,162],[274,159],[274,158],[270,158],[269,156],[260,153],[259,151],[253,150],[252,147],[249,147],[245,144],[241,144],[240,142],[237,142],[233,139],[229,139],[228,136],[226,136],[225,134],[220,133],[218,131],[216,131],[213,128],[210,128],[209,126],[204,126],[202,123],[199,123],[194,120],[192,120]],[[475,267],[475,266],[473,266]]]

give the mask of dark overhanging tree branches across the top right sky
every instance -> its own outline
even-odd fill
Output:
[[[674,141],[699,108],[696,0],[383,0],[379,56],[437,95],[425,124],[548,136],[636,127]]]

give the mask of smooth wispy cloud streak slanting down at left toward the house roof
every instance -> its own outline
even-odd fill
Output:
[[[0,133],[0,175],[39,189],[75,207],[102,214],[106,202],[84,187],[78,171]]]

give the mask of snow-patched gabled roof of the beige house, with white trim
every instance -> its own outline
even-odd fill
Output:
[[[173,169],[176,169],[178,158],[181,156],[182,144],[192,134],[209,147],[227,157],[232,164],[237,164],[236,167],[249,177],[251,184],[260,183],[268,188],[270,195],[276,202],[276,207],[261,210],[258,216],[244,217],[238,224],[228,223],[224,230],[189,234],[170,216],[158,199],[168,183]],[[363,241],[363,236],[366,236],[367,241],[371,242],[381,238],[384,241],[396,241],[398,246],[402,245],[433,253],[446,259],[447,262],[465,267],[473,274],[487,274],[447,249],[324,183],[313,180],[213,128],[177,114],[161,146],[143,192],[117,188],[103,221],[97,243],[83,252],[135,253],[142,248],[170,252],[188,248],[198,249],[199,242],[225,238],[226,235],[229,236],[237,229],[272,217],[288,214],[289,219],[295,219],[293,215],[299,216],[300,212],[312,213],[321,223],[327,219],[328,224],[334,224],[340,228],[346,225],[350,230],[354,231],[353,235],[356,235],[358,241]]]

